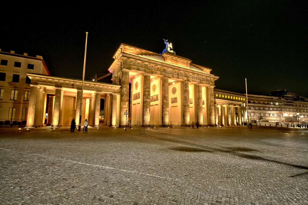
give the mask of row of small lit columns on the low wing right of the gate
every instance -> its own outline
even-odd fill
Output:
[[[241,125],[241,107],[228,105],[215,105],[215,124],[216,125],[236,125],[237,107],[238,124]],[[220,113],[220,115],[219,115]]]

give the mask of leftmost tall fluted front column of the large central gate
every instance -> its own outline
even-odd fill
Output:
[[[124,112],[128,112],[128,100],[129,100],[129,70],[121,70],[121,113],[120,113],[120,126],[125,127],[125,115]]]

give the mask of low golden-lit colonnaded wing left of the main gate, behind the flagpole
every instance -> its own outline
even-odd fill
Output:
[[[51,128],[70,126],[75,118],[79,124],[82,80],[27,73],[31,79],[31,96],[25,128],[42,125],[45,115],[46,98],[49,95],[47,124]],[[99,128],[100,99],[105,99],[104,125],[118,127],[120,122],[120,86],[107,83],[85,81],[82,99],[82,119],[89,121],[89,126]],[[45,100],[44,100],[45,99]],[[81,124],[82,124],[81,123]]]

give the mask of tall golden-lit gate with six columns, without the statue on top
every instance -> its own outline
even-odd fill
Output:
[[[109,67],[120,85],[120,126],[125,111],[132,126],[215,125],[214,91],[217,76],[172,53],[153,53],[121,44]],[[131,86],[129,86],[131,84]],[[131,95],[131,96],[129,96]]]

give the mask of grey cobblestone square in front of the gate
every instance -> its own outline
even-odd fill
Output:
[[[0,204],[308,204],[307,148],[303,131],[1,128]]]

